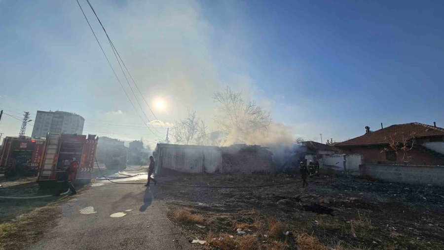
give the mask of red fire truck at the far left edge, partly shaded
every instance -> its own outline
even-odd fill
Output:
[[[0,171],[6,178],[15,175],[35,176],[43,158],[44,139],[11,137],[3,139]]]

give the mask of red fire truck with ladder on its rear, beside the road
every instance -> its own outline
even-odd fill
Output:
[[[65,172],[75,160],[79,163],[76,183],[89,183],[96,157],[97,141],[95,134],[57,134],[48,133],[43,162],[38,169],[37,182],[52,183],[57,174]]]

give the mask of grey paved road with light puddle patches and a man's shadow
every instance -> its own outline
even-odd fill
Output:
[[[191,249],[155,193],[156,187],[108,183],[79,192],[62,205],[58,226],[31,249]],[[126,215],[110,217],[117,212]]]

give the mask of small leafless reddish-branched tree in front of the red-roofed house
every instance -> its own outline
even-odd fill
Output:
[[[384,140],[388,141],[389,146],[384,147],[381,150],[381,153],[384,152],[395,152],[395,154],[399,155],[399,152],[403,154],[402,161],[405,163],[409,163],[412,159],[411,156],[408,155],[408,151],[413,149],[413,145],[415,143],[415,132],[412,132],[408,135],[401,133],[401,135],[394,133],[393,135],[389,135],[389,137],[385,137]]]

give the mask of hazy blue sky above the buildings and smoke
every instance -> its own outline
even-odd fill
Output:
[[[148,102],[165,101],[153,110],[164,123],[192,108],[211,124],[211,93],[230,85],[307,140],[341,141],[380,123],[444,126],[442,1],[91,2]],[[0,34],[9,114],[58,109],[82,115],[86,130],[116,133],[99,135],[161,137],[116,126],[143,122],[75,0],[1,0]],[[3,116],[0,132],[19,129]]]

